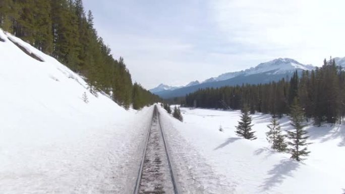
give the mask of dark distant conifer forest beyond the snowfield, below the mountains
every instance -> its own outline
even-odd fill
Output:
[[[295,98],[306,118],[314,118],[315,124],[341,122],[345,114],[345,72],[336,66],[334,59],[325,59],[321,68],[302,74],[295,72],[290,81],[200,89],[188,94],[185,103],[202,108],[248,106],[252,113],[258,111],[281,117],[290,113]]]

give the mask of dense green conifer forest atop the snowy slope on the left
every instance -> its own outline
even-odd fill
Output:
[[[93,94],[103,91],[125,108],[159,100],[132,83],[124,59],[110,54],[82,0],[1,0],[0,27],[85,77]]]

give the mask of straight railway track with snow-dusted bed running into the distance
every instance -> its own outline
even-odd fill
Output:
[[[164,133],[154,107],[134,194],[178,194]]]

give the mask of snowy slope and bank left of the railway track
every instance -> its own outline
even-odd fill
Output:
[[[54,58],[0,37],[0,193],[133,192],[152,107],[96,98]]]

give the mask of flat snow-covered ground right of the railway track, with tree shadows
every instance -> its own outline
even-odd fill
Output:
[[[309,126],[310,156],[303,162],[269,148],[270,115],[253,115],[257,140],[235,135],[239,111],[181,109],[184,123],[160,109],[183,193],[343,193],[345,126]],[[219,132],[219,125],[224,132]],[[280,119],[282,130],[291,129]],[[190,185],[190,186],[189,186]],[[197,189],[199,190],[197,190]]]

